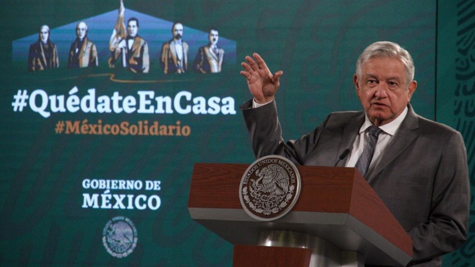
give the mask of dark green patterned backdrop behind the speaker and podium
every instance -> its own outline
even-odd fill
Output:
[[[240,61],[254,51],[266,59],[271,71],[284,71],[277,102],[285,138],[296,138],[311,131],[331,111],[361,109],[352,76],[356,58],[367,45],[387,40],[404,46],[416,65],[419,87],[412,101],[416,112],[464,135],[474,184],[475,68],[471,34],[475,21],[470,14],[475,7],[470,1],[125,0],[128,10],[169,22],[181,21],[188,33],[218,28],[223,40],[236,43],[235,48],[227,48],[228,60],[218,74],[163,75],[156,47],[150,47],[150,72],[142,75],[109,69],[104,54],[95,69],[68,70],[62,60],[59,69],[29,73],[27,62],[13,54],[14,42],[36,35],[43,24],[53,32],[64,25],[116,12],[118,2],[2,2],[0,265],[230,266],[232,245],[190,220],[188,193],[195,162],[253,161],[238,110],[250,94],[238,73]],[[110,29],[97,36],[109,38],[115,19],[103,23],[110,23]],[[141,24],[141,29],[151,28],[146,34],[153,36],[154,26],[145,21]],[[66,45],[67,50],[75,38],[74,30],[66,39],[63,36],[67,32],[51,35],[51,40]],[[93,39],[98,46],[100,38]],[[171,34],[163,38],[157,33],[153,38],[149,41],[159,45]],[[183,39],[190,44],[202,41],[191,40],[187,31]],[[65,57],[61,54],[60,60]],[[111,80],[111,75],[116,80]],[[44,118],[30,106],[21,112],[15,112],[12,106],[19,90],[31,94],[43,89],[48,95],[67,98],[75,86],[79,96],[95,88],[96,96],[118,92],[137,99],[141,90],[172,98],[180,91],[206,99],[232,97],[237,113],[117,114],[79,110],[51,113]],[[62,121],[79,121],[82,125],[84,120],[95,124],[98,120],[102,124],[147,120],[150,125],[154,121],[160,125],[180,121],[182,127],[190,128],[190,135],[55,132],[56,124]],[[83,208],[83,194],[100,195],[105,191],[83,188],[84,179],[160,180],[160,190],[110,193],[157,195],[161,205],[156,210]],[[138,234],[137,247],[122,259],[112,257],[102,245],[103,228],[116,216],[129,218]],[[463,267],[473,262],[475,224],[473,216],[471,219],[469,241],[444,258],[445,266]]]

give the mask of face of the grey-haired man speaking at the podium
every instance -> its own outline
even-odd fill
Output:
[[[353,82],[366,114],[376,126],[397,118],[417,88],[416,81],[406,84],[401,60],[389,57],[370,58],[361,67],[361,77],[355,75]]]

